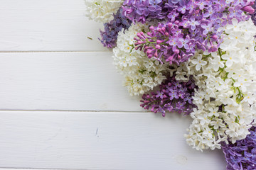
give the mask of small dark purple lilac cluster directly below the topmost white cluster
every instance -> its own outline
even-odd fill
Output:
[[[117,45],[117,35],[119,31],[124,28],[127,30],[131,26],[132,21],[122,15],[122,8],[113,15],[114,19],[109,23],[104,23],[104,31],[100,30],[102,39],[99,38],[100,42],[104,47],[113,48]]]

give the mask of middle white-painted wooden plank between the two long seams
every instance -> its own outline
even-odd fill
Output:
[[[112,52],[0,53],[1,110],[144,111]]]

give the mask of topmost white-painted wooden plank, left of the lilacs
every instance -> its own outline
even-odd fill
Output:
[[[1,0],[0,21],[0,51],[107,51],[83,0]]]

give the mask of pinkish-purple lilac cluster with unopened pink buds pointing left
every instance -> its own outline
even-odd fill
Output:
[[[186,25],[186,21],[181,23]],[[189,35],[178,29],[175,23],[159,23],[159,26],[150,27],[150,32],[137,34],[135,42],[136,49],[144,50],[147,57],[154,57],[159,62],[169,62],[170,64],[180,64],[185,62],[194,54],[196,42]]]

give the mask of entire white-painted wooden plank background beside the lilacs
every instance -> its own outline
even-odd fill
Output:
[[[83,0],[0,2],[0,169],[225,169],[129,96]]]

